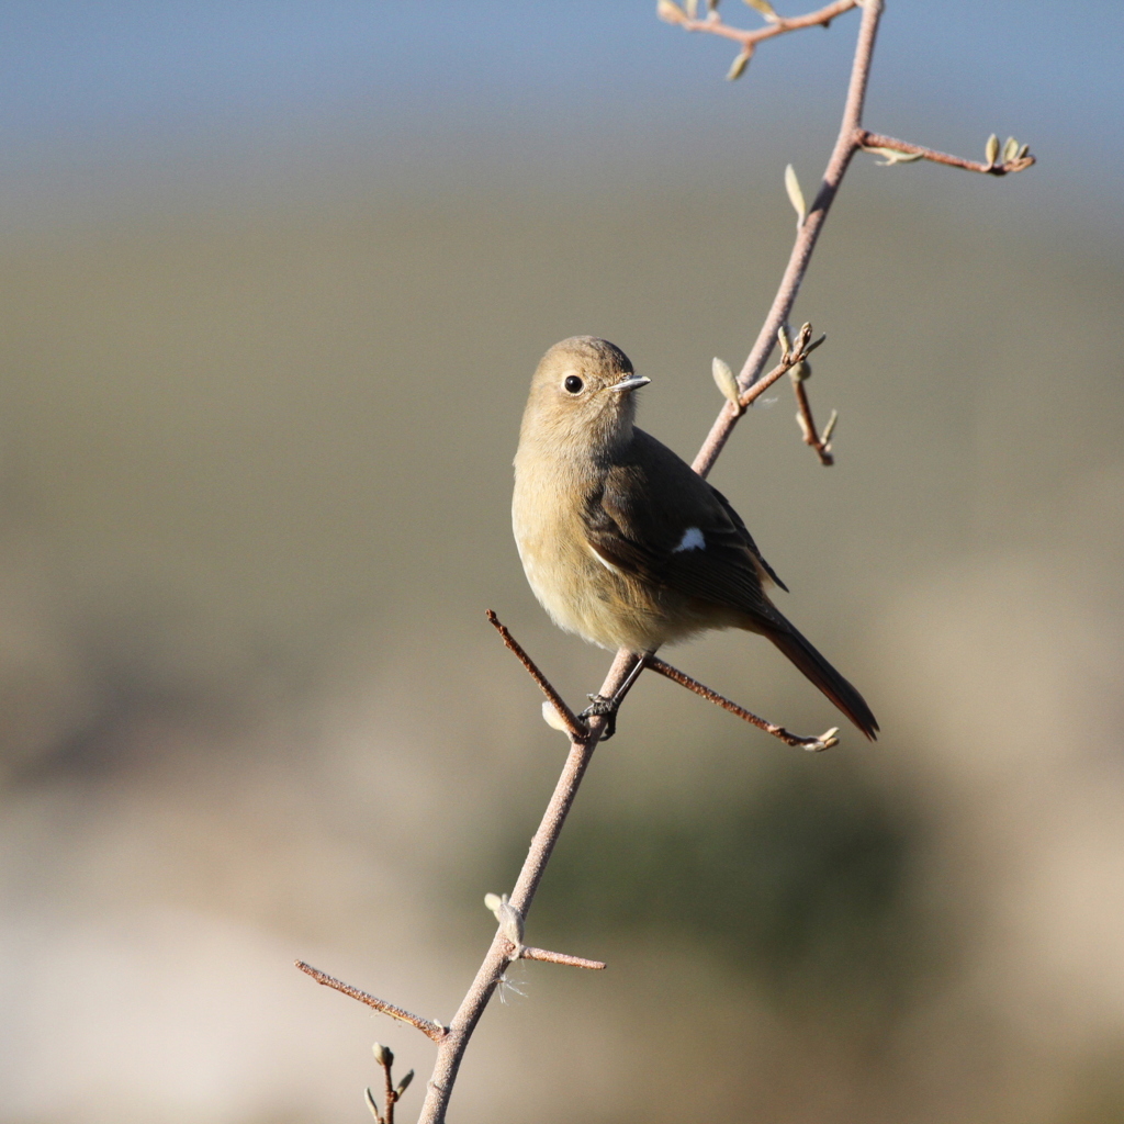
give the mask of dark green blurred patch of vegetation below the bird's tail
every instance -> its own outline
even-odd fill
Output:
[[[916,809],[855,769],[803,762],[758,781],[575,812],[536,932],[563,948],[662,941],[738,969],[786,1006],[892,1015],[935,952],[912,869],[924,845]]]

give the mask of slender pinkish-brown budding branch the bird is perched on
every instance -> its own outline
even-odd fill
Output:
[[[812,254],[823,230],[824,223],[827,219],[827,214],[839,192],[847,166],[856,152],[865,151],[881,155],[883,162],[890,164],[927,160],[933,163],[995,176],[1024,171],[1034,163],[1034,157],[1030,155],[1028,147],[1019,144],[1014,138],[1009,138],[1000,152],[998,138],[995,136],[990,137],[985,146],[985,162],[977,163],[871,133],[863,127],[863,103],[867,94],[878,25],[882,16],[882,0],[836,0],[836,2],[827,4],[817,11],[795,18],[779,16],[769,3],[769,0],[746,0],[746,2],[752,8],[755,8],[764,18],[764,27],[754,30],[731,27],[718,15],[717,0],[707,0],[707,13],[704,18],[699,18],[698,0],[690,0],[686,7],[680,7],[673,0],[659,0],[658,13],[662,19],[671,24],[677,24],[685,30],[717,35],[738,43],[741,52],[727,75],[731,79],[736,79],[744,73],[745,66],[758,44],[767,39],[808,27],[827,27],[832,20],[845,15],[852,8],[860,9],[861,22],[839,136],[810,206],[807,206],[805,202],[804,192],[800,189],[795,171],[789,167],[786,172],[786,189],[797,214],[797,233],[791,253],[789,254],[788,264],[781,277],[772,305],[764,318],[764,323],[761,325],[756,341],[736,377],[723,360],[715,359],[714,361],[714,379],[725,396],[726,404],[718,413],[692,464],[695,471],[703,477],[706,477],[714,466],[738,418],[769,387],[785,374],[789,374],[792,381],[798,407],[797,418],[805,443],[815,450],[821,463],[833,463],[831,437],[836,414],[833,410],[831,420],[828,420],[823,432],[818,432],[813,420],[812,407],[805,387],[805,382],[810,373],[807,362],[808,355],[823,344],[824,337],[821,336],[813,341],[812,326],[805,324],[797,334],[795,342],[792,342],[790,341],[787,325],[796,303],[800,284],[808,270]],[[778,344],[781,350],[780,361],[768,373],[763,373],[765,363],[773,347]],[[601,713],[599,708],[595,708],[592,713],[588,713],[588,717],[575,715],[531,656],[515,641],[510,632],[499,622],[496,614],[489,610],[488,619],[500,634],[507,647],[519,659],[527,673],[545,695],[546,701],[543,704],[544,717],[552,727],[566,735],[570,745],[565,764],[562,768],[561,776],[543,814],[538,830],[532,839],[531,847],[510,896],[488,895],[486,898],[486,905],[496,916],[498,926],[491,945],[472,984],[461,1000],[460,1007],[446,1026],[437,1021],[413,1015],[401,1007],[378,999],[365,991],[361,991],[359,988],[343,984],[341,980],[320,972],[318,969],[310,968],[302,961],[298,961],[298,967],[318,982],[342,991],[382,1014],[408,1023],[436,1043],[437,1058],[434,1063],[433,1075],[426,1087],[425,1104],[422,1108],[419,1124],[442,1124],[445,1121],[450,1097],[453,1093],[464,1051],[488,1001],[496,989],[506,981],[505,972],[511,963],[523,959],[541,960],[549,963],[587,969],[599,970],[605,968],[605,964],[600,961],[586,960],[580,957],[570,955],[569,953],[550,952],[526,945],[523,937],[526,917],[534,901],[543,872],[550,861],[554,845],[561,835],[566,816],[573,806],[582,778],[592,760],[593,751],[598,742],[611,732],[613,715]],[[651,653],[641,658],[626,650],[617,652],[597,698],[611,703],[615,708],[623,701],[637,676],[645,669],[651,669],[679,683],[688,690],[720,706],[728,713],[778,737],[788,745],[821,751],[839,742],[839,731],[835,728],[827,731],[819,737],[800,737],[790,734],[783,727],[758,717],[744,707],[738,706],[717,691],[691,679],[682,671],[679,671]],[[381,1054],[380,1051],[382,1051]],[[384,1071],[384,1108],[380,1111],[370,1090],[366,1094],[368,1105],[375,1117],[377,1124],[393,1124],[393,1106],[405,1090],[411,1075],[407,1075],[404,1081],[395,1086],[390,1075],[393,1055],[390,1054],[389,1050],[377,1044],[375,1058]]]

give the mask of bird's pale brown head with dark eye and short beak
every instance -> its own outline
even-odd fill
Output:
[[[563,339],[542,357],[531,380],[522,439],[546,442],[560,453],[611,455],[632,439],[633,391],[649,382],[607,339]]]

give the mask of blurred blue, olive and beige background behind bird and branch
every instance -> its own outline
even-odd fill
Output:
[[[601,681],[510,541],[531,372],[613,339],[689,459],[837,128],[854,15],[726,83],[653,7],[0,9],[4,1124],[359,1122],[374,1039],[417,1112],[432,1044],[292,961],[448,1019],[564,752],[484,609]],[[515,970],[456,1120],[1124,1121],[1124,15],[887,9],[868,125],[1040,163],[856,160],[837,463],[781,383],[711,478],[883,736],[644,677],[527,931],[609,970]]]

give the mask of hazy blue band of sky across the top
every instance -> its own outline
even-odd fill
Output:
[[[756,20],[738,0],[723,10]],[[278,174],[297,152],[455,164],[484,146],[549,164],[582,148],[689,153],[704,137],[776,144],[787,129],[830,139],[853,13],[765,45],[731,84],[728,44],[653,12],[649,0],[8,0],[0,200],[63,203],[75,178],[94,194],[158,192],[184,161],[202,179]],[[1124,197],[1116,0],[890,0],[882,26],[871,127],[970,155],[992,129],[1014,132],[1059,201]]]

